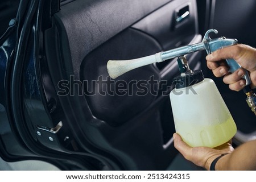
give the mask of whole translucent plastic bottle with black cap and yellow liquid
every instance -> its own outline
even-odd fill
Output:
[[[236,124],[214,81],[200,70],[174,78],[170,94],[176,133],[189,146],[217,147],[237,132]]]

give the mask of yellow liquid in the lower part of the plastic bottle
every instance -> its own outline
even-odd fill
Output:
[[[176,133],[191,147],[217,147],[228,142],[237,132],[232,117],[215,125],[188,125],[187,122],[175,122]]]

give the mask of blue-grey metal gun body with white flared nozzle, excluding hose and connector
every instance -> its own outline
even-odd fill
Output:
[[[205,33],[203,41],[201,43],[183,46],[171,49],[169,51],[158,52],[155,55],[141,57],[133,60],[109,60],[107,64],[109,75],[112,78],[117,78],[118,76],[123,75],[123,73],[129,72],[135,68],[143,67],[144,65],[159,63],[165,60],[172,59],[174,57],[187,55],[188,53],[202,51],[204,49],[209,55],[217,49],[237,44],[237,39],[226,39],[225,37],[211,39],[209,34],[212,32],[214,32],[215,34],[218,33],[218,31],[214,29],[208,30]],[[226,63],[229,65],[230,72],[234,72],[237,69],[241,68],[241,66],[233,59],[226,60]],[[246,80],[246,85],[251,84],[251,80],[247,72],[243,78],[245,78]]]

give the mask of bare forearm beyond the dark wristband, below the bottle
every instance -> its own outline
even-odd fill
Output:
[[[243,143],[232,153],[222,156],[216,170],[256,170],[256,140]]]

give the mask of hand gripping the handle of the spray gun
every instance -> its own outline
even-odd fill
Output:
[[[246,81],[242,79],[245,70],[249,71],[251,88],[256,88],[256,49],[244,44],[218,49],[206,57],[207,67],[212,69],[214,76],[224,76],[223,81],[229,84],[231,90],[239,91],[245,87]],[[229,68],[224,59],[234,59],[242,68],[234,73],[229,73]]]

